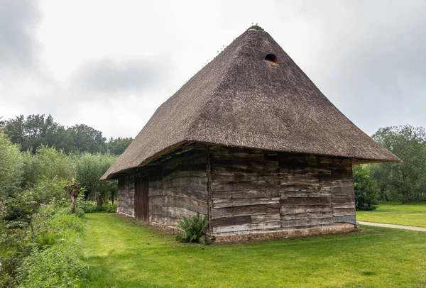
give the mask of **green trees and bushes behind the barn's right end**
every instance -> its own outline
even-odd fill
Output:
[[[403,162],[354,166],[356,208],[373,210],[379,201],[426,201],[425,128],[380,128],[372,138]]]

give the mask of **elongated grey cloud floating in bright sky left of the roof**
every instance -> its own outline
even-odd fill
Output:
[[[102,59],[80,67],[71,83],[88,92],[143,92],[165,79],[167,71],[163,65],[146,60]]]

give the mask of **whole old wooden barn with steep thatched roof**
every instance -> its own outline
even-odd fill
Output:
[[[350,231],[352,165],[399,161],[265,31],[249,28],[163,103],[102,179],[118,213],[163,226],[200,213],[217,240]]]

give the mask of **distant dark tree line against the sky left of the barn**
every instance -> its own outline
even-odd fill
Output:
[[[1,120],[1,119],[0,119]],[[105,138],[98,131],[85,124],[65,127],[55,122],[52,116],[33,114],[16,116],[0,121],[2,131],[21,151],[36,153],[40,145],[55,147],[70,153],[110,153],[121,155],[133,138]]]

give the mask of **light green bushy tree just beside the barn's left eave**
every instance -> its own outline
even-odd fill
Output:
[[[99,181],[108,168],[116,161],[115,155],[82,153],[76,157],[77,180],[87,189],[86,198],[94,199],[99,192],[103,199],[111,198],[117,193],[116,182]]]

